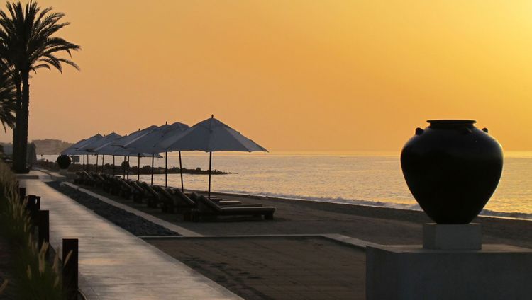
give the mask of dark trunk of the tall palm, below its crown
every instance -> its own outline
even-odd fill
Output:
[[[26,167],[26,150],[28,149],[28,119],[30,115],[30,83],[29,83],[29,71],[21,72],[22,76],[22,101],[21,101],[21,126],[18,127],[17,139],[18,146],[15,171],[16,173],[28,173]],[[18,114],[17,114],[18,115]]]

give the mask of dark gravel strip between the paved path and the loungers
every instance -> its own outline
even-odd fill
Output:
[[[103,202],[96,197],[87,195],[67,185],[61,185],[59,181],[50,181],[47,183],[50,187],[72,198],[84,207],[91,209],[101,217],[108,219],[123,229],[133,233],[135,236],[177,236],[179,233],[171,231],[163,226],[155,224],[143,217],[139,217],[131,212],[115,207]]]

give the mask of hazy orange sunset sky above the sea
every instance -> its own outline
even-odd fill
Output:
[[[472,118],[532,149],[530,1],[38,3],[67,13],[82,71],[33,76],[30,139],[214,113],[270,151],[399,151],[425,120]]]

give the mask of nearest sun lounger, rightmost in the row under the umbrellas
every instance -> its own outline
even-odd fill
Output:
[[[193,221],[201,221],[205,217],[218,216],[264,216],[264,219],[273,219],[275,207],[250,207],[245,205],[222,207],[204,196],[197,197],[198,206],[192,214]]]

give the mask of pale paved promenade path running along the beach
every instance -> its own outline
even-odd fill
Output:
[[[145,241],[45,184],[47,174],[21,177],[28,195],[50,211],[50,243],[79,238],[79,285],[89,299],[240,299]]]

